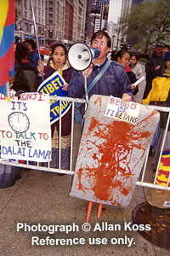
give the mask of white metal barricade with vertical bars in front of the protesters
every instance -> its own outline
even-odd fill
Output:
[[[10,165],[10,166],[20,166],[23,168],[28,168],[28,169],[32,169],[32,170],[39,170],[39,171],[45,171],[45,172],[56,172],[56,173],[63,173],[63,174],[69,174],[69,175],[73,175],[74,174],[74,170],[73,170],[73,133],[74,133],[74,108],[75,108],[75,102],[81,102],[85,104],[85,108],[87,108],[87,104],[86,101],[83,99],[77,99],[77,98],[70,98],[70,97],[61,97],[61,96],[50,96],[50,100],[58,100],[59,101],[59,168],[58,169],[54,169],[52,167],[50,167],[50,162],[46,163],[46,166],[44,166],[44,164],[39,163],[39,162],[35,162],[34,164],[30,164],[29,161],[27,160],[26,163],[21,163],[19,160],[16,161],[12,161],[12,160],[0,160],[0,163],[4,164],[4,165]],[[61,111],[60,111],[60,107],[61,107],[61,102],[71,102],[72,104],[72,109],[71,109],[71,157],[70,157],[70,170],[63,170],[60,168],[61,166]],[[155,110],[158,111],[163,111],[163,112],[167,112],[168,113],[168,117],[167,117],[167,125],[166,125],[166,130],[163,136],[163,140],[162,140],[162,144],[161,144],[161,150],[160,150],[160,155],[159,155],[159,160],[156,166],[156,175],[155,178],[152,178],[150,181],[145,181],[145,177],[147,174],[147,170],[148,170],[148,160],[149,160],[149,151],[150,148],[148,148],[147,150],[147,154],[146,154],[146,158],[144,160],[144,166],[143,166],[143,170],[139,176],[139,181],[136,183],[139,186],[144,186],[144,187],[148,187],[148,188],[155,188],[155,189],[164,189],[164,190],[169,190],[170,191],[170,187],[168,187],[168,184],[170,182],[170,172],[168,174],[168,178],[167,178],[167,184],[165,186],[161,186],[159,184],[156,184],[156,177],[159,171],[159,166],[160,166],[160,162],[161,162],[161,154],[163,151],[163,146],[165,143],[165,138],[167,135],[167,128],[168,128],[168,124],[169,124],[169,120],[170,120],[170,108],[166,108],[166,107],[158,107],[158,106],[150,106],[150,108],[153,108]]]

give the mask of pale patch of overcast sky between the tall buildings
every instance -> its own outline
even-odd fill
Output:
[[[108,21],[118,22],[121,17],[122,0],[110,0]]]

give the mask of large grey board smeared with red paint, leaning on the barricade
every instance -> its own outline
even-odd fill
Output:
[[[71,196],[127,207],[160,115],[140,106],[136,125],[105,116],[109,96],[91,97]]]

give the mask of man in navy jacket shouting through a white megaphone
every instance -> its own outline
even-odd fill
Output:
[[[92,49],[90,51],[94,55],[96,49],[99,52],[94,59],[88,54],[88,46],[86,46],[87,49],[86,47],[84,49],[84,46],[81,47],[80,43],[76,43],[71,47],[73,50],[70,49],[68,57],[71,67],[74,69],[71,73],[68,96],[84,97],[84,77],[86,76],[89,98],[96,94],[119,97],[126,102],[133,100],[133,90],[124,68],[118,62],[110,61],[107,58],[111,48],[111,38],[104,30],[95,32],[91,38]],[[97,77],[99,79],[96,79]],[[95,81],[94,84],[93,81]],[[92,84],[93,86],[91,86]],[[84,112],[83,107],[81,107],[81,112]]]

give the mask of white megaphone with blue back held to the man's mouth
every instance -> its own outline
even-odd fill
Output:
[[[89,48],[83,43],[72,44],[68,52],[68,61],[71,67],[82,71],[87,69],[90,64],[99,56],[97,48]]]

